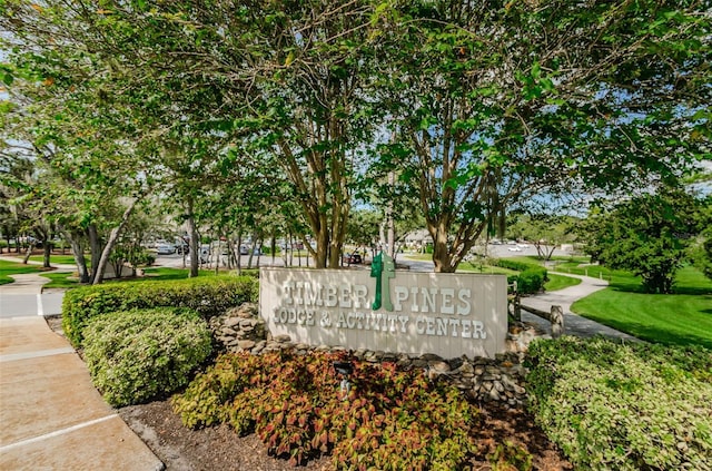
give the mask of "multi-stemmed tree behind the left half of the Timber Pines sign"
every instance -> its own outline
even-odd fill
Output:
[[[291,183],[317,242],[316,265],[338,266],[354,159],[377,109],[366,90],[369,1],[7,4],[3,23],[13,31],[40,35],[34,24],[52,20],[52,33],[111,65],[121,85],[147,101],[170,99],[180,110],[170,116],[271,154],[264,165],[280,166]]]

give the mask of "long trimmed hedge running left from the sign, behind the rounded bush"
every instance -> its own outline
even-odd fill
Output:
[[[71,290],[62,302],[62,327],[75,347],[95,316],[135,308],[188,307],[204,318],[257,300],[258,283],[249,276],[199,277],[165,282],[117,282]]]

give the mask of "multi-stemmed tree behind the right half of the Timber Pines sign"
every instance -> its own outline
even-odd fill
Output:
[[[645,187],[709,153],[705,2],[389,7],[385,158],[419,195],[436,271],[533,194]]]

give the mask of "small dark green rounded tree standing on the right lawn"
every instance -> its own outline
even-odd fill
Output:
[[[643,278],[647,293],[671,293],[675,272],[700,230],[700,204],[685,192],[661,188],[590,216],[586,253],[611,268]]]

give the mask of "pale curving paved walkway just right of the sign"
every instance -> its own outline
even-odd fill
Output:
[[[603,335],[611,338],[622,338],[631,342],[639,341],[639,338],[632,335],[616,331],[615,328],[611,328],[571,312],[571,305],[575,301],[605,288],[609,285],[609,282],[605,279],[593,278],[591,276],[572,275],[568,273],[561,273],[561,275],[580,278],[581,283],[575,286],[568,286],[564,290],[551,293],[522,297],[522,305],[545,312],[551,312],[553,305],[561,306],[564,311],[564,334],[566,335],[576,335],[580,337]],[[545,332],[551,332],[551,323],[548,321],[526,312],[524,307],[522,311],[522,321],[535,324]]]

